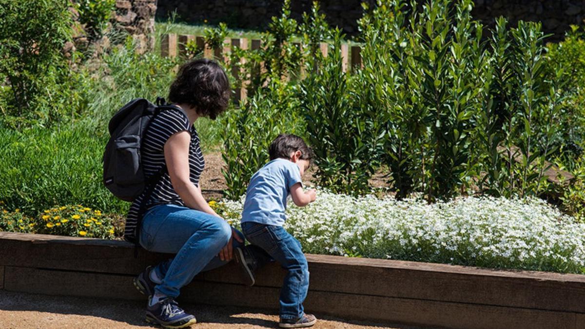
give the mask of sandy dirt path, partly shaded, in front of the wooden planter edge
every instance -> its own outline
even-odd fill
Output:
[[[50,283],[47,283],[50,284]],[[0,328],[151,328],[143,320],[144,302],[13,293],[0,290]],[[270,310],[184,305],[199,324],[192,328],[277,328]],[[156,328],[156,327],[154,327]],[[400,325],[319,317],[318,328],[411,328]]]

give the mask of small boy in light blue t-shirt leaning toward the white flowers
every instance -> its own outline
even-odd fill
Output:
[[[242,211],[242,232],[250,244],[258,246],[287,270],[280,291],[281,328],[310,327],[316,323],[312,314],[305,314],[302,302],[307,297],[309,271],[301,244],[283,228],[287,197],[299,207],[315,201],[315,190],[302,190],[301,176],[311,161],[311,149],[302,138],[279,135],[269,148],[270,162],[258,170],[248,185]],[[249,275],[261,255],[252,255],[254,249],[236,248],[236,262]],[[262,251],[260,251],[262,252]],[[263,253],[263,252],[262,252]]]

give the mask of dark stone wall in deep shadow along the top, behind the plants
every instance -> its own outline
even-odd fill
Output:
[[[300,19],[308,12],[312,0],[292,0],[291,15]],[[329,23],[344,32],[357,32],[356,20],[362,16],[362,0],[321,0],[322,11]],[[374,0],[365,0],[370,4]],[[422,2],[422,1],[421,1]],[[562,37],[571,24],[583,23],[585,0],[475,0],[474,17],[486,25],[494,18],[505,16],[512,24],[522,20],[541,20],[547,33]],[[179,20],[190,23],[216,24],[226,22],[230,28],[265,29],[271,16],[278,15],[281,0],[159,0],[157,18],[166,19],[177,10]]]

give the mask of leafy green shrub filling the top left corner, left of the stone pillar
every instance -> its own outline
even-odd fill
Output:
[[[37,119],[40,98],[57,86],[53,71],[62,61],[61,49],[70,38],[71,17],[66,1],[0,1],[0,75],[10,88],[5,114]]]

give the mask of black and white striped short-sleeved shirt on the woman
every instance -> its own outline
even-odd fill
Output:
[[[149,128],[143,136],[142,147],[142,165],[146,179],[156,174],[165,164],[164,162],[164,143],[174,133],[188,131],[191,133],[191,143],[189,145],[189,178],[195,186],[199,184],[199,176],[205,166],[199,136],[195,127],[191,126],[189,119],[180,109],[164,109],[159,115],[151,121]],[[145,198],[146,190],[132,203],[126,218],[126,228],[124,229],[124,238],[131,242],[137,242],[139,237],[136,236],[136,226],[139,225],[140,206],[144,204],[144,210],[160,204],[185,205],[181,197],[173,189],[171,177],[165,170],[160,180],[156,183],[149,200]]]

